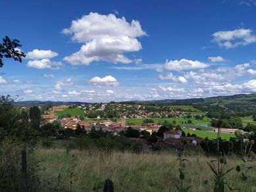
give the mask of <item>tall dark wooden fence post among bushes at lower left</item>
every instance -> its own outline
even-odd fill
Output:
[[[27,162],[27,153],[26,149],[22,149],[21,151],[21,180],[22,180],[22,191],[28,191],[28,162]]]

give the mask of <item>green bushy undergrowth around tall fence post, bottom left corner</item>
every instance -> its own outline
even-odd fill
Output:
[[[22,143],[4,139],[0,143],[0,191],[22,191],[21,175],[21,151],[24,149]],[[34,158],[34,151],[28,151],[28,189],[35,191],[39,189],[38,162]]]

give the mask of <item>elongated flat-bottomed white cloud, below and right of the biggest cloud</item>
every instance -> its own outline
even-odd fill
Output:
[[[203,62],[199,62],[198,60],[166,60],[164,68],[166,70],[191,70],[196,68],[207,68],[209,64],[205,64]]]

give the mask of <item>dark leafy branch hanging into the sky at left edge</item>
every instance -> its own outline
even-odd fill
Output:
[[[5,36],[3,43],[0,43],[0,67],[3,67],[3,58],[13,58],[14,60],[22,62],[22,57],[26,57],[26,55],[16,49],[21,46],[20,41],[17,39],[11,40],[8,36]]]

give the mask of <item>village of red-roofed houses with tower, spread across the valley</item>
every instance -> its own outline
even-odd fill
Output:
[[[76,108],[77,110],[84,110],[84,116],[71,116],[67,114],[63,114],[62,116],[57,116],[58,111],[64,111],[66,108],[72,109]],[[106,116],[102,118],[100,114],[107,114],[111,111],[116,112],[116,116],[108,119]],[[94,118],[88,118],[86,116],[90,113],[95,113],[97,115]],[[128,118],[151,118],[151,117],[177,117],[177,118],[186,118],[188,113],[180,110],[171,110],[167,107],[147,107],[141,105],[122,105],[119,103],[109,103],[109,104],[89,104],[89,105],[63,105],[63,106],[53,106],[46,110],[42,116],[45,123],[53,123],[58,121],[61,124],[61,127],[64,129],[76,130],[78,125],[84,132],[87,134],[91,132],[91,130],[102,132],[111,132],[115,136],[120,136],[121,133],[126,132],[128,129],[138,130],[138,132],[147,132],[149,135],[156,135],[155,133],[159,132],[159,129],[163,126],[161,124],[156,124],[153,122],[148,122],[143,125],[138,124],[127,124],[126,120]],[[118,117],[118,120],[115,118]],[[121,118],[120,118],[121,117]],[[176,129],[176,130],[175,130]],[[151,143],[151,147],[156,148],[174,148],[174,149],[183,149],[184,142],[186,142],[187,146],[193,147],[200,145],[203,138],[196,137],[192,135],[190,137],[186,137],[186,135],[182,134],[182,130],[178,128],[174,128],[174,130],[166,130],[163,133],[162,137],[156,136],[157,142]],[[147,140],[145,138],[133,138],[129,137],[129,141],[133,143],[141,143],[141,145],[147,146]]]

